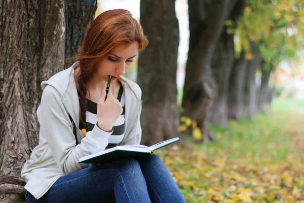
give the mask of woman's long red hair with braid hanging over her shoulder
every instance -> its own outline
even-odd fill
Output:
[[[117,45],[133,42],[138,42],[139,51],[148,45],[140,23],[128,10],[108,10],[91,22],[77,56],[80,67],[77,82],[80,92],[79,113],[82,128],[86,128],[86,84],[92,77],[97,64]]]

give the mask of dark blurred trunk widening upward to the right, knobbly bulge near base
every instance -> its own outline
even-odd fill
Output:
[[[237,1],[189,0],[189,51],[183,89],[183,115],[197,121],[204,142],[213,140],[209,129],[210,105],[215,81],[211,60],[217,41]]]

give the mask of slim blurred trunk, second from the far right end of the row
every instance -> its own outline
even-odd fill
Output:
[[[258,46],[255,43],[250,43],[251,53],[253,55],[253,60],[248,61],[248,65],[246,67],[246,79],[245,79],[245,95],[244,95],[244,115],[251,119],[254,112],[256,111],[255,107],[255,92],[256,92],[256,84],[255,84],[255,74],[257,69],[260,69],[260,53],[258,50]]]

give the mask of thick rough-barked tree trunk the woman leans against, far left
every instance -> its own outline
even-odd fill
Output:
[[[0,188],[22,194],[23,163],[38,142],[41,82],[63,70],[64,3],[2,1]]]

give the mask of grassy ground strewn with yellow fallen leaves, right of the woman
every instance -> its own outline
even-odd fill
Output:
[[[304,202],[304,102],[211,126],[217,141],[157,152],[186,202]]]

